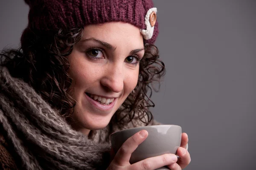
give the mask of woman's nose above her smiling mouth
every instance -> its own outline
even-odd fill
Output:
[[[100,82],[111,91],[119,93],[124,88],[124,76],[122,64],[109,65]]]

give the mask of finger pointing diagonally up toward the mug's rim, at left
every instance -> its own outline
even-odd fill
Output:
[[[147,138],[147,136],[148,132],[146,130],[141,130],[128,138],[117,151],[113,161],[120,166],[130,164],[129,160],[131,158],[131,154],[136,150],[139,144]]]

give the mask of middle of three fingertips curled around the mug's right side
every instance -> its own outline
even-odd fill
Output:
[[[182,169],[184,169],[191,161],[189,151],[187,151],[183,147],[179,147],[177,149],[177,156],[180,156],[180,158],[177,161],[177,164],[180,165]]]

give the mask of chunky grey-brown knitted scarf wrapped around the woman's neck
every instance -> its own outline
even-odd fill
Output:
[[[33,88],[0,66],[0,123],[27,170],[104,170],[110,159],[108,125],[91,139],[73,130]],[[141,121],[135,127],[144,126]]]

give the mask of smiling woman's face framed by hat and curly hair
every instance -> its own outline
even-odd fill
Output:
[[[68,56],[76,100],[71,126],[84,134],[102,129],[137,85],[144,55],[140,29],[122,22],[84,27]]]

